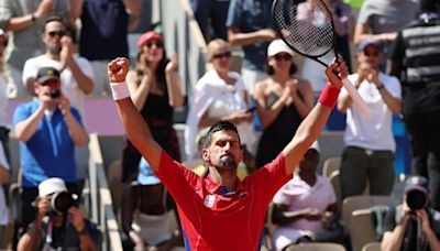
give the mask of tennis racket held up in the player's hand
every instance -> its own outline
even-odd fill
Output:
[[[324,67],[319,57],[336,46],[334,24],[329,8],[322,0],[274,0],[272,18],[283,41],[295,52],[311,58]],[[353,84],[344,78],[343,86],[365,118],[370,110]]]

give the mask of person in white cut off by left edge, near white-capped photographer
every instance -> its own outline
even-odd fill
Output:
[[[4,193],[3,186],[9,184],[9,164],[3,151],[3,145],[0,144],[0,237],[7,237],[7,226],[9,223],[9,209],[7,204],[7,195]],[[6,248],[9,240],[0,240],[0,249]]]

